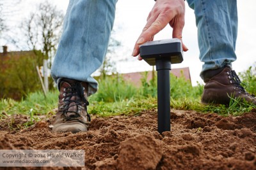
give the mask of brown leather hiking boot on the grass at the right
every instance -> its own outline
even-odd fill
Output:
[[[214,70],[206,71],[207,75],[214,74]],[[212,77],[205,77],[202,103],[204,104],[225,104],[230,103],[230,97],[239,99],[241,102],[248,102],[256,105],[256,98],[248,94],[241,86],[241,81],[236,72],[230,67],[216,70]]]

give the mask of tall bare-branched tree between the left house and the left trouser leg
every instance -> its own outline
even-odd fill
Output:
[[[44,1],[40,3],[35,12],[22,24],[28,46],[38,55],[38,50],[42,51],[42,57],[38,57],[38,64],[44,64],[44,84],[48,89],[48,68],[51,67],[51,61],[56,52],[58,41],[61,36],[61,30],[64,20],[63,11],[57,10],[56,6]],[[45,64],[46,63],[46,64]],[[47,65],[47,66],[45,66]],[[52,83],[52,79],[49,79]]]

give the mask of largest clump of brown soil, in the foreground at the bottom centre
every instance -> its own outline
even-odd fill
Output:
[[[162,157],[163,142],[141,134],[122,141],[117,155],[94,165],[95,169],[156,169]]]

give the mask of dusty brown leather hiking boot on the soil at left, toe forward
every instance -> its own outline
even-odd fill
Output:
[[[88,131],[90,115],[87,113],[88,101],[80,81],[63,79],[60,82],[58,111],[53,124],[53,132]]]

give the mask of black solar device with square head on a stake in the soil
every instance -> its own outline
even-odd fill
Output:
[[[157,131],[171,130],[170,70],[171,64],[183,61],[180,39],[148,41],[140,45],[140,56],[157,70]]]

